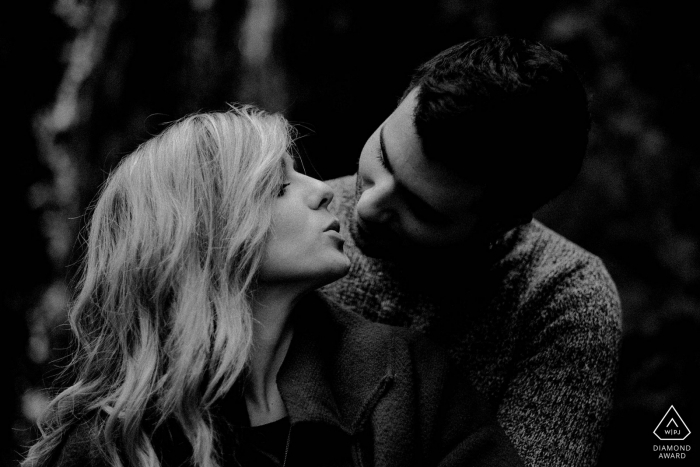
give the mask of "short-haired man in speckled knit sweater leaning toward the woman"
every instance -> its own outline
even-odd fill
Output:
[[[532,219],[578,174],[589,121],[564,55],[472,40],[419,67],[332,181],[352,266],[325,292],[446,345],[533,466],[595,464],[612,404],[615,285]]]

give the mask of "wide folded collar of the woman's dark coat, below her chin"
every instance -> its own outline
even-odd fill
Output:
[[[290,421],[359,431],[394,380],[393,334],[321,293],[299,302],[294,337],[277,375]]]

